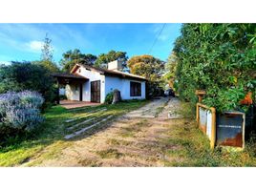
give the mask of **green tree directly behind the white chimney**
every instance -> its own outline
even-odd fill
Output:
[[[123,67],[126,67],[126,61],[128,60],[128,56],[125,52],[116,52],[110,51],[109,53],[101,53],[98,55],[96,59],[95,66],[98,68],[106,68],[106,65],[114,60],[122,61]]]

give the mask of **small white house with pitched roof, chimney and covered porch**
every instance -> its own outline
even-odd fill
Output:
[[[120,72],[121,63],[113,61],[108,70],[85,64],[76,64],[71,74],[56,74],[58,82],[65,84],[69,100],[103,103],[108,93],[117,89],[122,99],[144,99],[146,79],[135,74]]]

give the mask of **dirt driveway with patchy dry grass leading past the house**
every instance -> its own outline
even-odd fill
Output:
[[[179,149],[168,141],[172,127],[187,122],[168,118],[178,117],[174,111],[178,107],[176,98],[153,100],[93,136],[74,140],[60,155],[38,166],[164,166],[174,159],[168,151]]]

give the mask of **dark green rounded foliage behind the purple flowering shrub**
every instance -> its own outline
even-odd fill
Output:
[[[53,102],[56,96],[53,76],[44,66],[30,62],[12,62],[9,66],[0,66],[0,94],[23,90],[40,93],[45,104]]]

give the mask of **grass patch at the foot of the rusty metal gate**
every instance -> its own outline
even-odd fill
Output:
[[[177,126],[170,132],[170,138],[163,140],[165,144],[176,145],[178,149],[166,151],[173,160],[165,161],[166,166],[255,166],[252,145],[245,151],[232,151],[224,147],[209,148],[209,140],[196,127],[195,123]]]

